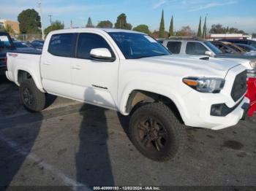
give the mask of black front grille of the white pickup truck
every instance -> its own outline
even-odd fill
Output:
[[[246,93],[247,90],[247,71],[243,71],[236,76],[235,82],[232,87],[231,97],[233,101],[238,101],[241,96]]]

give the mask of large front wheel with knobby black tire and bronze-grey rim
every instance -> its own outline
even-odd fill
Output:
[[[138,151],[151,160],[170,160],[187,140],[185,126],[162,103],[140,106],[129,122],[129,136]]]

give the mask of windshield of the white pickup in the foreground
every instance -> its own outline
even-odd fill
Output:
[[[170,52],[162,44],[146,34],[127,32],[109,32],[108,34],[127,59],[170,55]]]

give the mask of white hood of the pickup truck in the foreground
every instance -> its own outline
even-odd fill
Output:
[[[202,57],[202,56],[200,56]],[[134,61],[145,63],[146,66],[154,68],[154,71],[172,72],[181,76],[195,77],[222,77],[225,78],[227,71],[240,65],[234,61],[223,61],[222,59],[211,58],[200,60],[184,55],[165,55],[149,58],[140,58]]]

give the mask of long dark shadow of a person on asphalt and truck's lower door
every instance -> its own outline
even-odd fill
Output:
[[[85,96],[108,103],[95,94],[93,88],[86,90]],[[83,120],[80,124],[79,149],[76,154],[77,182],[92,186],[113,186],[114,179],[108,152],[108,125],[105,111],[96,108],[89,112],[88,104],[80,109]],[[87,112],[83,112],[87,110]]]

